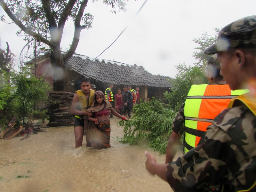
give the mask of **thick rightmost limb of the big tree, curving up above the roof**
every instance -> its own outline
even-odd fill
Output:
[[[72,57],[72,55],[75,53],[76,47],[77,47],[78,42],[80,40],[80,32],[81,32],[82,29],[85,28],[85,26],[81,27],[80,20],[83,17],[84,9],[87,6],[87,3],[88,3],[88,0],[83,0],[83,2],[81,3],[81,6],[79,8],[79,11],[76,15],[75,31],[74,31],[73,41],[72,41],[72,44],[71,44],[68,52],[63,56],[63,61],[64,61],[65,64]]]

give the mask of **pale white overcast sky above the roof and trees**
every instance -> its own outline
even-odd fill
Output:
[[[175,77],[175,65],[185,62],[193,65],[197,44],[192,40],[204,31],[214,34],[214,28],[254,15],[255,0],[148,0],[136,15],[144,0],[126,1],[127,12],[111,14],[111,7],[103,1],[89,1],[85,12],[94,16],[93,27],[81,31],[76,53],[96,57],[104,51],[128,26],[117,41],[99,59],[115,60],[125,64],[142,65],[154,75]],[[9,17],[0,7],[0,15]],[[136,15],[136,16],[135,16]],[[9,43],[18,65],[24,37],[17,37],[18,27],[0,21],[1,48]],[[61,48],[67,51],[74,35],[73,22],[66,23]],[[118,74],[116,74],[118,75]]]

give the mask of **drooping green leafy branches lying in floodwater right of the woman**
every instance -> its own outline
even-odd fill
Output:
[[[135,115],[129,121],[118,122],[119,126],[124,126],[122,142],[131,145],[147,144],[159,153],[165,153],[175,113],[164,108],[161,101],[154,97],[148,102],[137,104],[133,112]]]

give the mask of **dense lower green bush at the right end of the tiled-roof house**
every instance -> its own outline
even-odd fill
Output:
[[[185,102],[192,84],[205,84],[207,79],[204,72],[198,66],[187,66],[185,63],[176,65],[178,74],[170,79],[171,92],[164,93],[164,99],[169,101],[170,107],[178,111],[180,105]]]

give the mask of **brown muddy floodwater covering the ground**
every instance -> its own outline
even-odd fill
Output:
[[[111,148],[75,150],[74,127],[44,128],[25,140],[0,140],[0,191],[172,191],[145,169],[148,150],[164,163],[165,154],[120,143],[123,128],[111,118]],[[177,157],[175,157],[177,158]]]

